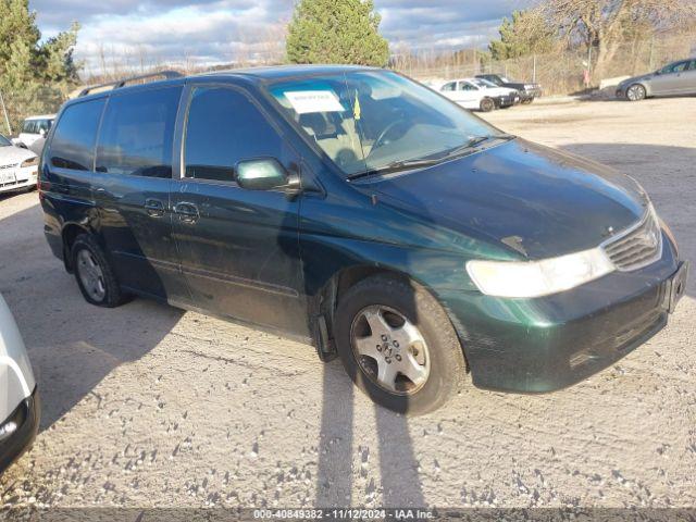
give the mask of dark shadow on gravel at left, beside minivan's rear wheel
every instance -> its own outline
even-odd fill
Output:
[[[152,350],[184,312],[146,299],[116,309],[85,302],[74,276],[49,253],[38,206],[0,220],[0,293],[32,360],[44,431],[88,395],[99,405],[94,388],[115,368]],[[29,264],[32,256],[41,259]]]

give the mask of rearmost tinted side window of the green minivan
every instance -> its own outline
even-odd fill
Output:
[[[59,169],[91,171],[97,128],[104,98],[70,105],[58,122],[51,142],[51,164]]]

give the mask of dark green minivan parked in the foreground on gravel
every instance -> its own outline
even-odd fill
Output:
[[[467,372],[509,391],[575,383],[684,293],[636,182],[396,73],[122,85],[62,108],[40,169],[46,237],[94,304],[136,294],[283,331],[422,413]]]

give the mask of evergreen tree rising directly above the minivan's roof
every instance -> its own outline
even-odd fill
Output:
[[[389,46],[372,0],[299,0],[288,27],[291,63],[385,66]]]

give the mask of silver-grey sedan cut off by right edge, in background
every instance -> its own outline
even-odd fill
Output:
[[[684,95],[696,95],[696,58],[680,60],[654,73],[624,79],[617,87],[617,97],[630,101]]]

